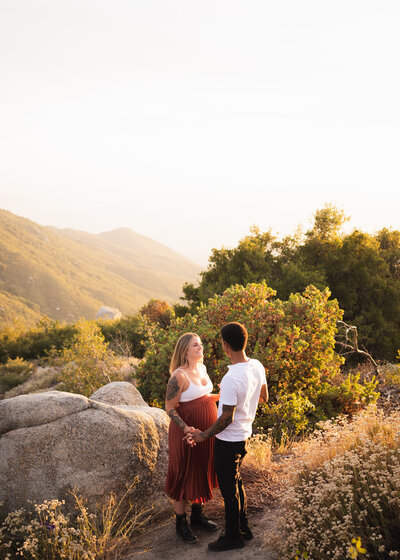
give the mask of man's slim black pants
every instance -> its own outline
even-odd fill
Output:
[[[247,453],[247,441],[215,438],[214,459],[218,484],[225,503],[225,529],[237,537],[247,524],[247,500],[239,467]]]

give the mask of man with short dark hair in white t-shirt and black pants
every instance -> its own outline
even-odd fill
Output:
[[[267,402],[265,369],[246,356],[247,330],[240,323],[221,329],[222,347],[232,365],[221,381],[217,421],[206,431],[192,430],[195,443],[215,436],[215,470],[225,503],[225,531],[209,543],[214,551],[242,548],[253,538],[247,520],[246,493],[239,467],[246,455],[247,439],[259,402]]]

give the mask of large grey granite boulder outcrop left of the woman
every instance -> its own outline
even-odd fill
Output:
[[[139,391],[114,382],[86,398],[61,391],[21,395],[0,402],[0,502],[4,512],[67,499],[77,488],[89,508],[110,492],[138,506],[169,508],[163,487],[168,463],[169,419],[149,407]]]

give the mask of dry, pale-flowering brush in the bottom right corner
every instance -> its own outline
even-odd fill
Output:
[[[399,557],[400,413],[384,417],[372,408],[352,423],[327,422],[297,454],[280,558],[343,560],[356,557],[357,546],[363,558]]]

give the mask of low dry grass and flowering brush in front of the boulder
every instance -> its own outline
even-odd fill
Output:
[[[0,526],[0,559],[111,560],[120,558],[135,532],[148,519],[129,503],[111,494],[96,515],[72,492],[77,514],[64,513],[64,501],[31,504],[10,513]]]

